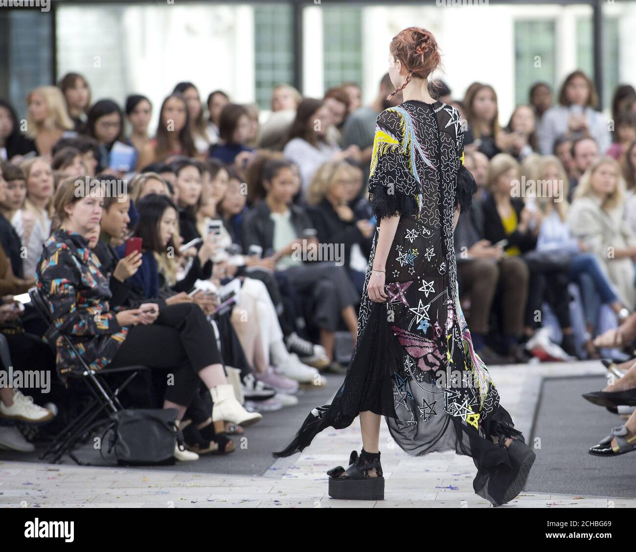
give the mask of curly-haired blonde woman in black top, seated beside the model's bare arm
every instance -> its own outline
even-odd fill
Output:
[[[346,161],[329,161],[315,172],[307,188],[307,214],[317,230],[319,243],[333,245],[357,291],[362,293],[365,257],[371,253],[375,223],[359,219],[349,206],[351,190],[358,184],[349,167]],[[357,262],[360,258],[363,263]]]

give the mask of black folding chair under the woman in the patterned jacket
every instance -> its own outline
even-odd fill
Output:
[[[29,297],[31,297],[31,304],[37,310],[38,314],[45,319],[45,321],[53,325],[53,319],[51,312],[48,308],[48,301],[45,294],[38,287],[32,287],[29,289]],[[50,445],[45,452],[40,455],[40,459],[44,460],[46,457],[51,458],[52,464],[60,462],[65,454],[68,454],[71,459],[81,466],[87,466],[88,462],[82,462],[73,453],[74,448],[78,445],[79,441],[88,439],[93,431],[103,427],[111,422],[110,416],[114,413],[123,410],[123,406],[120,403],[119,396],[121,392],[128,386],[133,378],[142,370],[149,369],[148,366],[122,366],[121,368],[102,368],[100,370],[93,370],[89,368],[88,364],[79,354],[77,348],[73,342],[69,339],[69,336],[60,333],[62,339],[64,339],[73,350],[78,359],[79,364],[83,371],[81,374],[73,374],[72,377],[78,377],[83,380],[92,394],[92,398],[81,414],[71,421],[60,433],[55,436],[52,445]],[[106,382],[107,375],[116,373],[130,373],[125,380],[120,383],[116,389],[112,390]]]

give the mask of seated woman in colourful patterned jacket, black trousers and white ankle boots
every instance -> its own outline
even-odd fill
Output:
[[[176,408],[177,420],[183,418],[202,381],[211,392],[213,421],[258,422],[261,415],[245,411],[234,396],[214,331],[198,305],[171,305],[161,311],[156,303],[126,310],[109,308],[108,279],[85,237],[99,226],[103,195],[102,186],[89,188],[84,179],[73,177],[60,184],[53,202],[59,228],[46,240],[37,267],[36,285],[45,293],[53,319],[47,338],[57,345],[60,376],[81,370],[62,338],[66,335],[92,369],[142,364],[172,375],[163,407]],[[207,346],[201,347],[201,342]],[[181,444],[175,457],[198,459]]]

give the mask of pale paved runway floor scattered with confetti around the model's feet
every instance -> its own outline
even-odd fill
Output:
[[[602,375],[599,366],[502,366],[490,373],[501,404],[528,436],[542,376]],[[322,432],[305,453],[277,460],[261,477],[0,462],[0,507],[491,507],[473,492],[470,458],[453,452],[408,457],[391,442],[384,422],[380,443],[384,501],[333,500],[326,493],[326,470],[346,466],[349,453],[359,450],[356,420],[347,429]],[[520,506],[636,507],[636,500],[522,493],[501,507]]]

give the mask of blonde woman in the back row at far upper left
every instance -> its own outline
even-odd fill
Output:
[[[38,86],[27,96],[27,137],[34,151],[50,156],[53,146],[62,137],[74,136],[73,120],[66,111],[66,100],[57,86]]]

